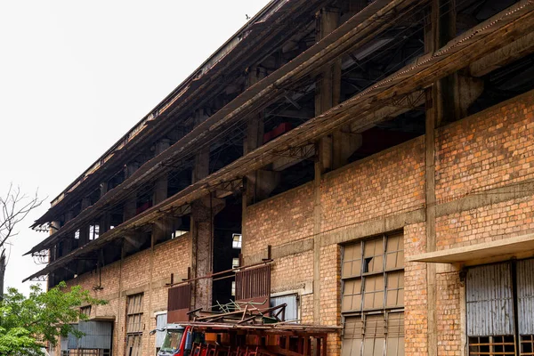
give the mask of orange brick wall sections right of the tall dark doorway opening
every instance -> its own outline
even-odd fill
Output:
[[[327,174],[320,185],[321,235],[425,209],[424,140],[419,137]],[[438,207],[457,204],[452,209],[457,212],[436,217],[438,249],[534,232],[534,192],[490,205],[477,203],[480,207],[463,212],[458,200],[534,179],[534,92],[437,130],[435,169]],[[247,207],[245,255],[262,253],[268,244],[276,247],[313,239],[312,189],[308,183]],[[428,352],[427,268],[425,263],[409,263],[408,259],[426,252],[425,222],[406,223],[404,235],[406,354],[424,355]],[[338,248],[320,248],[320,321],[324,324],[341,321]],[[304,255],[312,259],[311,251]],[[297,279],[311,278],[300,271],[301,266],[305,271],[310,268],[309,263],[302,263],[302,255],[297,257],[298,265],[287,263],[287,258],[273,263],[277,291],[295,285]],[[438,269],[435,303],[440,355],[457,355],[462,348],[460,286],[458,272]],[[301,308],[310,322],[312,295],[305,296]],[[335,354],[338,344],[333,340],[330,352]]]

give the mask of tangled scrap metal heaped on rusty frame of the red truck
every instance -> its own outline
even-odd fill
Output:
[[[193,354],[206,355],[311,355],[327,354],[328,334],[338,327],[298,324],[285,320],[286,303],[231,302],[216,305],[220,312],[191,311],[192,321],[183,326],[203,331],[205,343]]]

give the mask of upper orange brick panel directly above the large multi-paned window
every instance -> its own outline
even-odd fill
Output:
[[[321,231],[422,207],[424,143],[419,137],[327,174],[320,186]]]

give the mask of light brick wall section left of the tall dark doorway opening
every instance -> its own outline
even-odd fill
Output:
[[[125,352],[126,295],[142,292],[144,331],[142,336],[143,355],[154,354],[155,337],[150,330],[156,328],[154,312],[166,310],[167,288],[165,281],[174,273],[175,280],[187,275],[190,266],[190,236],[166,241],[154,249],[147,249],[126,257],[101,269],[101,289],[97,271],[91,271],[70,279],[68,285],[84,287],[97,298],[109,301],[107,305],[91,308],[91,317],[114,317],[113,354]]]

